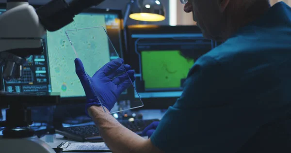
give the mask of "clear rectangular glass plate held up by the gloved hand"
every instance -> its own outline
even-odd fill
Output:
[[[75,52],[76,58],[79,58],[83,63],[84,69],[88,76],[88,80],[90,80],[89,77],[92,77],[100,68],[102,68],[108,62],[113,60],[121,62],[122,57],[119,56],[121,55],[121,51],[115,50],[113,43],[110,40],[105,28],[92,27],[68,30],[65,31],[65,34],[72,46],[72,49]],[[124,64],[127,64],[126,61],[124,61]],[[127,73],[125,66],[122,65],[120,68],[122,68],[122,73],[114,76],[114,78],[122,75],[123,78],[126,77],[125,79],[127,81],[130,81],[130,86],[126,90],[122,91],[121,95],[117,97],[117,101],[113,109],[111,110],[111,113],[121,112],[124,110],[143,106],[143,102],[140,97],[138,96],[139,98],[135,98],[134,96],[134,92],[136,92],[136,90],[133,82],[129,77],[130,75]],[[112,78],[114,86],[119,86],[115,83],[114,78]],[[123,79],[123,81],[125,79]],[[108,98],[102,97],[102,95],[97,94],[98,91],[100,91],[100,89],[94,89],[94,92],[96,92],[96,95],[98,95],[97,98],[99,102],[104,108],[104,101],[106,99],[108,100]],[[106,110],[104,109],[104,111]]]

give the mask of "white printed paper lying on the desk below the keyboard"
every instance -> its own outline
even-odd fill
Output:
[[[110,152],[104,142],[71,143],[63,152]]]

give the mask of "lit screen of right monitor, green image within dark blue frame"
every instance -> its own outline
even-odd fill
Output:
[[[139,68],[135,86],[141,98],[179,97],[194,62],[213,47],[202,34],[136,34]]]

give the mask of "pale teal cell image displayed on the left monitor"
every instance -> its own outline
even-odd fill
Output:
[[[75,71],[74,60],[76,55],[66,37],[65,31],[97,26],[106,27],[104,15],[81,14],[76,15],[74,22],[65,26],[61,30],[47,33],[52,92],[60,92],[61,97],[79,97],[85,95],[83,87],[81,86],[80,80]],[[80,44],[78,44],[78,48],[82,48],[82,50],[76,51],[78,54],[86,55],[84,57],[87,57],[87,59],[80,58],[84,66],[92,64],[92,60],[94,60],[94,55],[96,54],[96,52],[94,52],[95,47],[102,47],[100,49],[108,50],[107,54],[98,54],[98,56],[99,58],[108,59],[108,61],[110,61],[109,43],[106,34],[92,36],[90,33],[78,32],[78,36],[79,35]],[[84,40],[84,38],[86,40]],[[102,46],[95,46],[96,42],[100,42],[100,40],[107,41],[102,41]],[[100,65],[103,66],[104,63],[101,63]],[[95,73],[97,71],[96,66],[85,66],[85,69],[86,72],[91,73]]]

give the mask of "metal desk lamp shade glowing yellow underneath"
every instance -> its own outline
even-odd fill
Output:
[[[162,21],[165,11],[160,0],[135,0],[129,17],[138,21]]]

